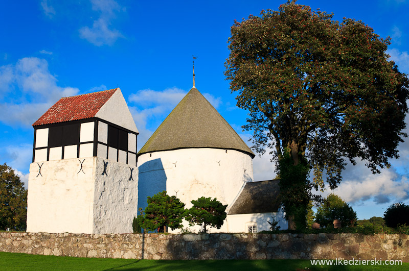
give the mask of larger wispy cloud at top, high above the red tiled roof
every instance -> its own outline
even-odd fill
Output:
[[[100,17],[94,20],[92,28],[82,27],[79,30],[80,37],[97,46],[113,45],[118,38],[124,36],[117,29],[111,29],[111,20],[116,13],[125,9],[113,0],[92,0],[93,10],[100,13]]]

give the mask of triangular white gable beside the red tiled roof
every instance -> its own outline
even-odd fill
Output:
[[[137,126],[119,88],[112,94],[95,116],[138,133]]]

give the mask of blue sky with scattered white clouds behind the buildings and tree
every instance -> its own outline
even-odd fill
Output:
[[[140,131],[140,149],[192,87],[192,54],[197,56],[196,87],[247,139],[249,134],[240,128],[246,112],[235,106],[235,94],[223,75],[229,55],[226,41],[234,19],[277,10],[284,2],[3,1],[0,163],[7,162],[26,181],[31,124],[60,97],[117,86]],[[336,20],[362,20],[381,37],[391,36],[391,59],[409,73],[409,0],[298,3],[333,12]],[[408,142],[399,145],[401,158],[380,175],[372,175],[360,161],[344,171],[344,182],[335,192],[354,207],[358,218],[382,216],[394,202],[409,203]],[[269,159],[254,159],[255,180],[275,176]]]

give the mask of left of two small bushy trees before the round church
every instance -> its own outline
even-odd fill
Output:
[[[148,206],[145,208],[145,215],[141,218],[142,225],[140,225],[151,231],[163,229],[164,226],[172,230],[179,229],[183,227],[181,223],[184,213],[185,204],[176,196],[167,195],[166,191],[162,191],[152,197],[148,196]]]

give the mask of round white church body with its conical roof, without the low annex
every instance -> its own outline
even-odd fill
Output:
[[[194,82],[194,81],[193,81]],[[193,87],[138,153],[139,208],[166,190],[187,208],[201,196],[231,204],[253,182],[254,153]],[[226,232],[225,225],[220,231]]]

